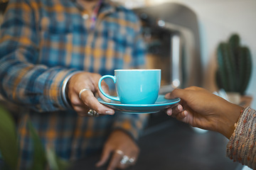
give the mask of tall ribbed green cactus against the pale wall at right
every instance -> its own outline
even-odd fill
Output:
[[[252,57],[249,48],[240,45],[240,36],[233,34],[228,42],[220,42],[217,51],[216,83],[218,88],[225,90],[230,95],[236,94],[236,96],[242,96],[242,99],[251,101],[251,97],[245,97],[252,72]],[[241,100],[234,103],[244,105],[240,102]]]

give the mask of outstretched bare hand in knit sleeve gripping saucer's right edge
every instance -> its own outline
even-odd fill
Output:
[[[220,132],[228,138],[243,109],[197,86],[174,89],[166,98],[181,98],[180,104],[167,109],[168,115],[193,127]]]

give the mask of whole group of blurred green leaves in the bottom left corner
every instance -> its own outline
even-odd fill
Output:
[[[68,169],[69,162],[60,159],[53,149],[45,149],[41,140],[31,123],[28,121],[28,129],[33,139],[33,164],[31,170],[43,170],[48,165],[52,170]],[[18,169],[18,139],[16,125],[11,114],[0,106],[0,151],[4,159],[4,170]]]

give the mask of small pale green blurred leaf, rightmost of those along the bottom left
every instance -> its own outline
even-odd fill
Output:
[[[48,159],[48,164],[52,170],[65,170],[68,169],[69,163],[63,159],[57,157],[52,149],[46,149],[46,157]]]

